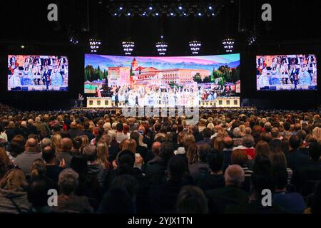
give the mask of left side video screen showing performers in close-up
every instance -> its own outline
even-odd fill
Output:
[[[9,91],[68,90],[66,56],[8,56]]]

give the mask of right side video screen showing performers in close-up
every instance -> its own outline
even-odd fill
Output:
[[[313,54],[257,56],[257,90],[317,90]]]

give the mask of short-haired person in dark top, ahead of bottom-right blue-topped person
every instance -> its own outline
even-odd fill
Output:
[[[309,162],[309,155],[305,152],[300,152],[300,137],[292,135],[289,140],[290,151],[287,153],[287,165],[296,172],[300,167],[307,165]]]

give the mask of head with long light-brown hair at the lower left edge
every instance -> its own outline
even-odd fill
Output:
[[[0,188],[2,190],[24,191],[27,185],[24,172],[19,169],[9,170],[0,181]]]

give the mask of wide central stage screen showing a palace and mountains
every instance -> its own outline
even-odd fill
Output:
[[[240,93],[240,54],[221,56],[85,56],[85,93],[118,94],[118,100],[153,105],[198,104]],[[104,94],[103,94],[104,96]],[[115,98],[113,98],[115,99]],[[166,100],[166,101],[165,101]]]

